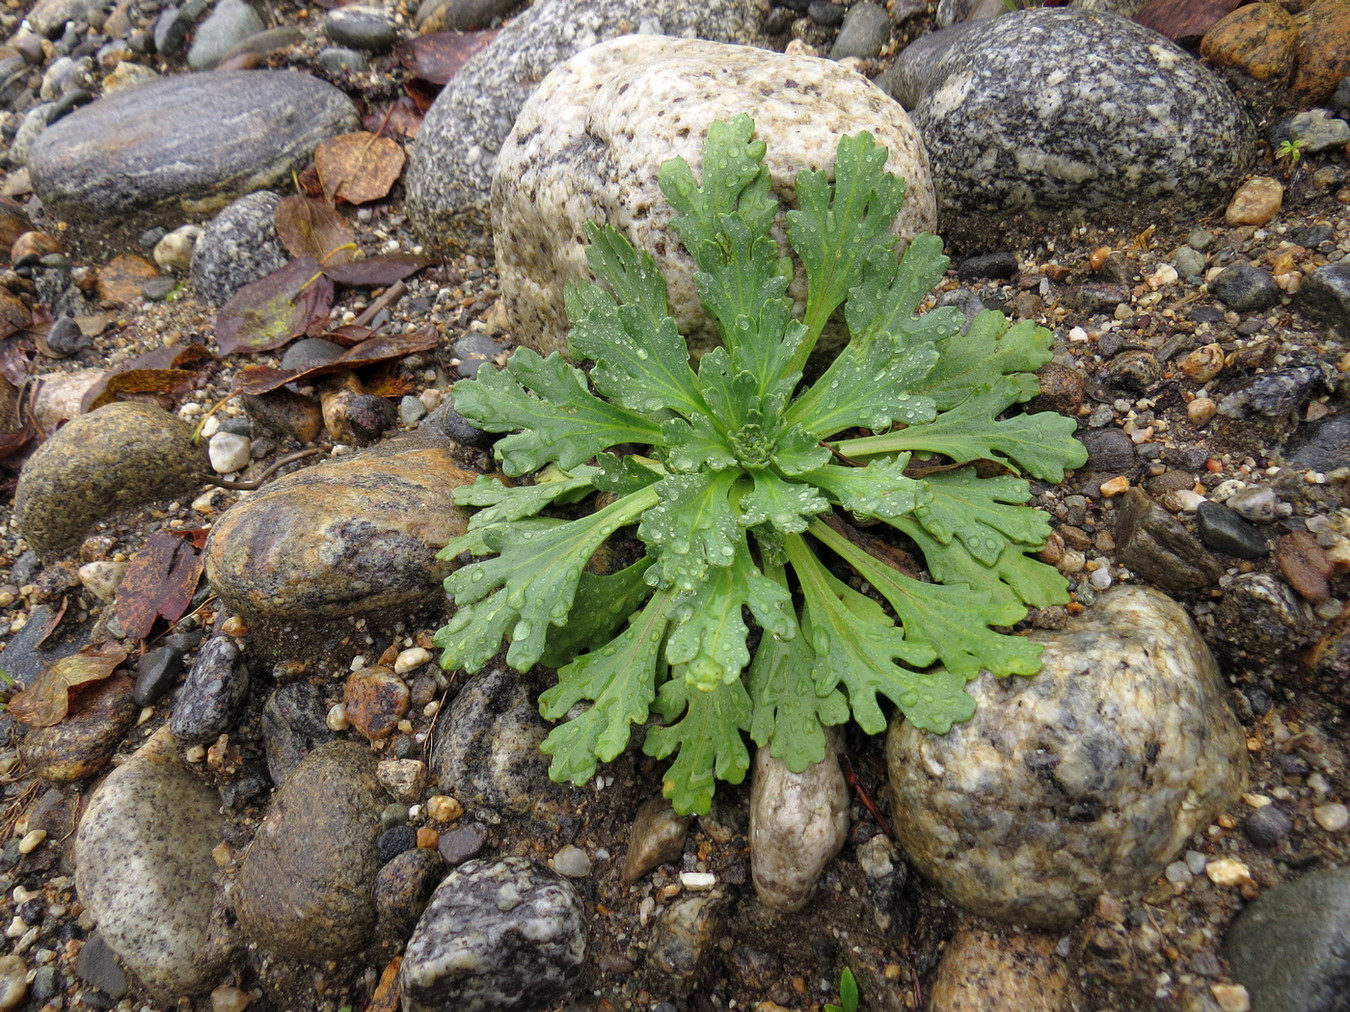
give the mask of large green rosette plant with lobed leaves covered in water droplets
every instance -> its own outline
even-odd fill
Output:
[[[454,387],[460,414],[509,433],[502,471],[536,478],[456,493],[479,511],[440,557],[477,560],[446,580],[440,663],[479,671],[505,638],[517,671],[558,668],[540,710],[563,721],[543,745],[559,781],[589,780],[655,711],[643,748],[675,756],[664,793],[682,814],[744,779],[747,734],[802,772],[825,757],[826,727],[883,731],[878,696],[942,734],[975,712],[965,684],[981,671],[1035,673],[1041,648],[1003,627],[1068,594],[1030,555],[1050,526],[1019,505],[1021,475],[1058,482],[1087,459],[1073,420],[1011,410],[1040,393],[1049,331],[914,314],[948,260],[932,235],[896,258],[905,182],[868,134],[840,139],[833,181],[796,175],[795,318],[753,132],[748,116],[714,123],[702,181],[680,158],[659,177],[722,347],[695,368],[656,263],[590,224],[601,285],[567,290],[568,351],[590,370],[521,348]],[[832,318],[848,344],[805,383]],[[849,521],[888,528],[926,572],[883,561]],[[641,557],[597,572],[591,556],[624,530]]]

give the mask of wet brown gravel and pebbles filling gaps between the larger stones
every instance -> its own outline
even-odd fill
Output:
[[[269,24],[302,24],[313,12],[277,5],[266,16]],[[824,18],[776,16],[787,27],[784,42],[796,35],[807,46],[828,49],[833,40],[836,28],[821,24]],[[927,16],[902,22],[894,42],[917,34]],[[153,12],[139,18],[148,23]],[[298,66],[312,66],[315,58],[312,42],[269,57]],[[159,65],[182,70],[181,59]],[[335,77],[354,94],[374,97],[387,89],[386,72],[377,65],[366,74]],[[1296,100],[1269,89],[1253,101],[1268,124],[1299,109]],[[570,999],[551,1008],[818,1008],[837,1000],[838,969],[845,963],[860,981],[864,1008],[925,1008],[934,988],[944,986],[938,970],[944,951],[959,945],[965,949],[965,973],[1006,978],[1017,976],[1017,966],[1029,966],[1052,981],[1053,988],[1046,986],[1060,996],[1057,1008],[1243,1008],[1220,945],[1233,918],[1265,889],[1301,872],[1343,865],[1350,850],[1345,807],[1350,627],[1341,618],[1350,568],[1350,453],[1342,414],[1350,343],[1343,328],[1305,312],[1296,294],[1315,269],[1350,258],[1350,173],[1345,150],[1331,148],[1296,161],[1277,161],[1266,151],[1257,174],[1285,188],[1278,208],[1260,225],[1230,224],[1224,206],[1185,216],[1137,208],[1075,223],[1062,216],[1019,219],[1004,223],[995,236],[957,225],[948,250],[953,266],[936,293],[963,308],[1000,308],[1054,332],[1056,358],[1042,371],[1042,398],[1045,406],[1080,420],[1079,436],[1092,453],[1062,486],[1037,487],[1035,503],[1056,522],[1042,557],[1069,578],[1073,603],[1033,614],[1030,625],[1057,627],[1119,583],[1168,588],[1215,652],[1246,733],[1251,775],[1242,803],[1195,834],[1149,889],[1104,896],[1072,930],[1038,935],[971,918],[917,873],[905,872],[894,849],[879,842],[884,827],[863,800],[873,797],[883,814],[891,812],[883,742],[857,733],[848,741],[857,775],[848,843],[826,869],[817,899],[790,915],[767,911],[749,882],[748,785],[721,788],[713,812],[690,826],[678,857],[636,882],[625,881],[634,812],[660,788],[656,764],[632,750],[605,770],[601,784],[541,792],[513,814],[470,806],[468,818],[452,823],[437,818],[444,812],[425,799],[417,799],[412,811],[392,802],[386,827],[439,834],[441,853],[452,826],[473,822],[466,846],[474,845],[477,833],[479,853],[551,864],[578,887],[591,954]],[[26,198],[14,166],[5,186],[9,196]],[[418,248],[402,196],[396,186],[386,200],[346,209],[362,248]],[[57,223],[36,224],[77,250],[77,278],[94,278],[113,254],[148,254],[139,236],[122,246],[81,244]],[[1231,263],[1253,264],[1264,279],[1230,275],[1241,290],[1224,290],[1220,298],[1218,273]],[[11,269],[0,283],[15,298],[35,297],[20,270]],[[1237,308],[1250,305],[1243,301],[1247,289],[1262,283],[1277,289],[1264,308]],[[190,285],[148,287],[158,298],[139,290],[127,298],[108,291],[101,306],[108,318],[88,345],[69,358],[40,358],[35,371],[105,370],[159,347],[211,345],[213,309]],[[354,293],[339,296],[335,320],[358,318],[379,298],[379,290]],[[450,385],[471,371],[466,362],[509,347],[497,301],[491,262],[459,256],[410,277],[379,310],[394,329],[431,325],[439,335],[435,349],[401,359],[385,376],[398,391],[393,398],[401,412],[398,429],[416,429]],[[177,391],[177,413],[194,424],[225,399],[242,358],[223,358],[190,389]],[[240,414],[231,402],[217,417],[228,428]],[[319,459],[350,452],[325,437],[309,445],[255,439],[252,463],[236,478],[265,475],[273,463],[310,445]],[[281,472],[312,460],[285,464]],[[487,459],[464,449],[460,463],[483,468]],[[1161,563],[1141,553],[1138,525],[1122,524],[1122,515],[1138,511],[1129,488],[1146,490],[1197,537],[1173,544]],[[49,565],[28,549],[7,501],[0,506],[0,564],[8,569],[0,576],[0,634],[7,642],[0,667],[20,681],[35,675],[39,626],[45,633],[51,626],[42,644],[49,656],[59,645],[73,649],[104,638],[111,609],[94,580],[81,582],[77,565],[123,563],[159,529],[207,528],[247,494],[202,484],[174,503],[122,515],[85,540],[77,560]],[[1206,517],[1204,510],[1197,513],[1204,502],[1226,502],[1233,510],[1210,510]],[[1202,588],[1179,587],[1176,573],[1184,567],[1222,575]],[[1261,575],[1272,578],[1269,584],[1253,583]],[[1262,590],[1269,586],[1276,591]],[[273,665],[263,683],[313,685],[329,727],[360,742],[364,738],[346,730],[343,715],[331,707],[343,700],[352,671],[377,658],[397,665],[410,685],[412,707],[405,723],[377,746],[381,758],[417,760],[432,750],[437,718],[462,683],[421,653],[444,618],[432,607],[387,621],[269,630],[266,642],[259,630],[244,636],[248,630],[235,625],[228,631],[244,636],[248,648]],[[188,617],[167,636],[190,650],[205,630],[228,619],[209,592],[198,592]],[[265,699],[255,685],[228,748],[198,746],[189,753],[196,776],[221,791],[225,842],[213,855],[227,881],[266,807],[269,784],[258,773],[266,758]],[[115,762],[165,726],[173,702],[169,695],[140,710]],[[7,951],[22,959],[22,966],[0,961],[5,977],[0,1008],[167,1007],[128,992],[74,892],[74,827],[89,788],[35,777],[18,758],[19,738],[15,722],[0,715],[0,839],[5,841],[0,924]],[[321,807],[324,799],[312,803]],[[497,820],[489,822],[489,815]],[[313,822],[321,823],[321,812]],[[305,834],[300,839],[304,846],[327,845]],[[435,835],[418,843],[435,847]],[[880,868],[888,855],[898,872]],[[699,873],[714,876],[713,892],[701,891]],[[676,908],[686,923],[657,916]],[[390,1008],[382,977],[405,938],[386,932],[358,957],[339,961],[281,959],[240,949],[221,976],[225,984],[209,1000],[178,1007]],[[18,988],[20,978],[26,989]],[[7,1005],[5,996],[16,990],[27,996]]]

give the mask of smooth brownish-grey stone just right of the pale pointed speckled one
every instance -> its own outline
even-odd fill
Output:
[[[375,927],[375,756],[350,741],[315,749],[277,791],[239,866],[239,927],[263,949],[333,959]]]

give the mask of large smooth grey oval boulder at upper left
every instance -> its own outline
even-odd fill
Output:
[[[28,150],[28,173],[58,216],[99,225],[162,209],[165,224],[177,224],[184,212],[289,181],[321,140],[355,128],[347,96],[309,74],[176,74],[45,130]]]

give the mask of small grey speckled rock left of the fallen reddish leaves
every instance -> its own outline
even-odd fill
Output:
[[[281,194],[250,193],[234,201],[201,229],[192,251],[192,287],[211,305],[284,267],[290,256],[277,237]]]

